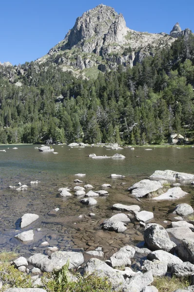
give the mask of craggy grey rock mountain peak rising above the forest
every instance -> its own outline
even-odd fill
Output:
[[[137,32],[126,27],[122,14],[100,4],[78,17],[65,38],[37,62],[52,62],[63,71],[95,76],[99,70],[116,69],[120,64],[133,67],[142,63],[145,56],[170,47],[176,37],[189,32],[182,31],[178,23],[170,35]]]

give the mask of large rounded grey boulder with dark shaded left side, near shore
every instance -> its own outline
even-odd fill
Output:
[[[144,240],[151,250],[171,251],[173,243],[167,231],[159,224],[150,223],[144,228]]]

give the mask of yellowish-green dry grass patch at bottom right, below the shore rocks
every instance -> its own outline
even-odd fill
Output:
[[[177,289],[184,289],[190,285],[188,279],[177,278],[175,276],[167,277],[155,277],[154,282],[152,283],[159,292],[170,292]]]

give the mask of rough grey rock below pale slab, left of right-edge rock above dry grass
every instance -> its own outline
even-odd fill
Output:
[[[146,259],[141,267],[143,272],[152,271],[153,276],[164,276],[167,273],[167,263],[155,259],[150,261]]]

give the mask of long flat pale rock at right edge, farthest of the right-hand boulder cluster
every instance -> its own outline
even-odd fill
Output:
[[[150,178],[152,179],[161,179],[167,181],[193,181],[194,174],[184,173],[184,172],[177,172],[173,170],[156,170]]]

